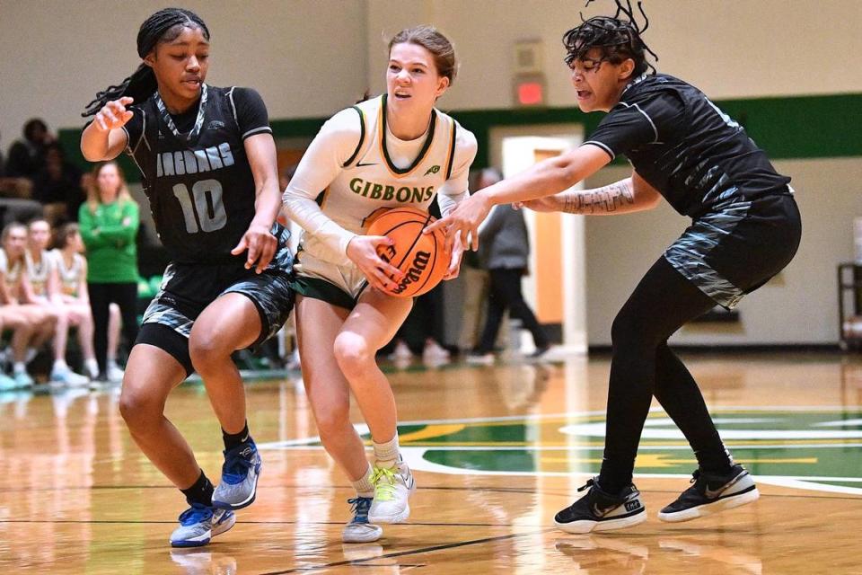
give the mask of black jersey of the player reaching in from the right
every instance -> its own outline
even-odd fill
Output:
[[[787,193],[780,175],[745,130],[704,93],[670,75],[642,75],[585,145],[626,155],[635,171],[679,213]]]

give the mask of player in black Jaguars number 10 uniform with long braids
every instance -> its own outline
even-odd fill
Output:
[[[129,357],[120,411],[137,445],[189,502],[175,546],[207,544],[233,526],[231,509],[254,500],[260,456],[231,353],[277,332],[293,305],[287,234],[274,225],[280,193],[267,109],[254,90],[204,83],[209,50],[197,14],[154,13],[137,35],[143,64],[97,94],[81,138],[92,162],[124,149],[132,156],[172,259]],[[224,438],[215,491],[163,414],[168,394],[195,370]]]

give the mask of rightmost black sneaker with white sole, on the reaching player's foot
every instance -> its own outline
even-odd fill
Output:
[[[718,475],[700,470],[691,474],[689,489],[682,491],[677,500],[662,509],[658,518],[662,521],[690,521],[734,509],[751,503],[761,496],[752,476],[742,465],[734,465],[730,472]]]

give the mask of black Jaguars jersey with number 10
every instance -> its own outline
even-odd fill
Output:
[[[198,107],[180,116],[168,114],[158,93],[131,111],[127,151],[144,176],[156,230],[172,261],[241,261],[230,251],[255,213],[243,142],[272,133],[259,94],[204,85]]]

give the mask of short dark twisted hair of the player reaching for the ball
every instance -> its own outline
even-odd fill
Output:
[[[591,2],[593,0],[587,0],[586,5],[590,5]],[[583,59],[591,49],[598,48],[602,49],[603,61],[620,64],[628,58],[634,60],[635,69],[632,75],[644,74],[647,68],[652,69],[655,74],[655,66],[647,62],[646,52],[649,52],[656,61],[658,56],[640,37],[649,27],[649,19],[644,13],[640,0],[638,0],[638,10],[644,17],[643,27],[635,18],[631,0],[625,0],[625,2],[615,0],[615,2],[617,12],[612,17],[594,16],[584,20],[584,16],[581,15],[581,24],[563,35],[566,65],[571,67],[576,60]],[[620,15],[625,18],[621,18]]]

